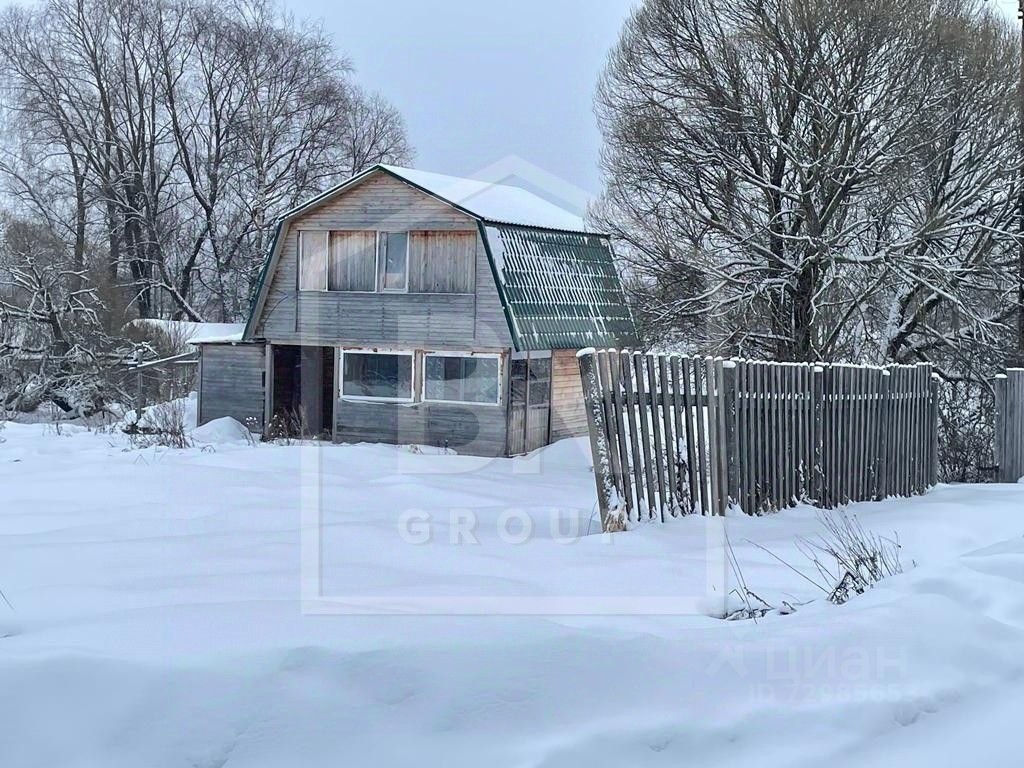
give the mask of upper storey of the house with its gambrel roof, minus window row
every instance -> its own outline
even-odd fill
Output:
[[[378,166],[282,221],[245,338],[520,351],[635,345],[636,327],[606,237],[583,231],[582,222],[569,230],[497,218],[574,219],[552,208],[514,187]],[[475,292],[299,291],[298,232],[339,229],[476,232]]]

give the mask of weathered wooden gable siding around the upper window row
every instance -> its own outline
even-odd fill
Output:
[[[475,244],[475,292],[299,292],[298,231],[313,229],[470,233]],[[476,221],[397,179],[371,177],[298,217],[282,237],[278,266],[254,326],[257,337],[275,344],[438,345],[465,349],[505,349],[512,345]]]

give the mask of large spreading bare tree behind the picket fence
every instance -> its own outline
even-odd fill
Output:
[[[596,214],[651,325],[782,359],[1001,343],[1016,51],[973,0],[647,0]]]

